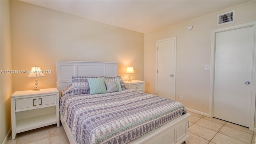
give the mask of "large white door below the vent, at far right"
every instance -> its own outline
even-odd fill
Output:
[[[254,27],[216,33],[213,116],[249,127]]]

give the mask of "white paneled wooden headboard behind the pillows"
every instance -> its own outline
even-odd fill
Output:
[[[116,62],[82,62],[56,60],[57,89],[71,84],[71,76],[117,76]]]

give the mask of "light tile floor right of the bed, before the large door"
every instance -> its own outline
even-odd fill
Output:
[[[187,144],[256,144],[253,131],[244,126],[193,112],[189,117]]]

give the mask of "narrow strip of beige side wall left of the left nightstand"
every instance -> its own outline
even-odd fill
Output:
[[[1,42],[0,70],[12,70],[12,49],[10,35],[10,8],[8,0],[0,0]],[[6,140],[11,127],[10,96],[12,95],[12,74],[0,75],[0,143]],[[8,137],[7,137],[8,138]]]

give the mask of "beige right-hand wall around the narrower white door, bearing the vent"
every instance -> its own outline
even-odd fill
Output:
[[[235,22],[216,26],[216,16],[236,10]],[[176,46],[176,100],[184,96],[182,103],[187,107],[208,114],[211,31],[219,28],[256,20],[256,1],[220,10],[198,18],[180,22],[167,28],[146,33],[144,40],[144,81],[146,92],[156,92],[156,41],[177,37]],[[192,25],[193,29],[188,30]],[[180,101],[181,102],[181,101]]]

